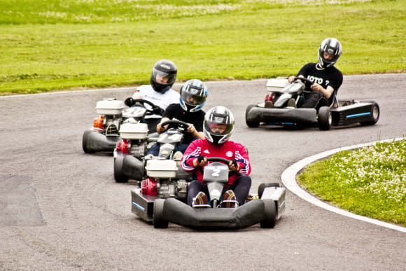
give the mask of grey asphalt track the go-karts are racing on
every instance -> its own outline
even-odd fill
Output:
[[[235,113],[253,186],[333,148],[405,137],[406,74],[344,76],[340,99],[375,100],[377,125],[249,129],[248,104],[265,80],[210,82],[204,109]],[[179,88],[179,85],[176,86]],[[104,97],[132,89],[0,97],[0,270],[405,270],[406,234],[321,209],[288,192],[274,229],[156,230],[131,213],[134,183],[113,179],[113,158],[86,155],[83,131]],[[405,204],[405,202],[402,202]]]

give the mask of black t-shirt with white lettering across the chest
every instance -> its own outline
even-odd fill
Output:
[[[302,69],[300,69],[297,76],[304,76],[304,78],[309,79],[313,83],[318,83],[323,88],[327,88],[330,85],[334,88],[335,94],[337,90],[342,85],[342,73],[336,67],[319,68],[318,63],[307,63]],[[306,83],[306,89],[311,91],[310,84]],[[330,103],[332,102],[332,97],[330,97]]]

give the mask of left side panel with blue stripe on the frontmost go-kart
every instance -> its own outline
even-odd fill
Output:
[[[131,211],[139,218],[151,223],[155,199],[154,196],[142,195],[139,189],[131,190]]]

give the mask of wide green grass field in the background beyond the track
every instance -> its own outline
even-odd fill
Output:
[[[342,42],[344,74],[405,72],[405,0],[0,0],[0,95],[148,83],[162,58],[179,81],[269,78]]]

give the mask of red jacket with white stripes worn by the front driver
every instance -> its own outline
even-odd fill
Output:
[[[234,172],[228,177],[228,184],[233,183],[239,175],[249,175],[251,173],[248,153],[246,153],[245,147],[241,144],[229,140],[224,144],[217,145],[210,143],[207,139],[197,139],[186,149],[181,160],[181,165],[186,172],[193,172],[199,181],[203,181],[203,169],[201,167],[193,167],[193,160],[200,155],[207,156],[208,158],[221,157],[237,161],[239,171]]]

